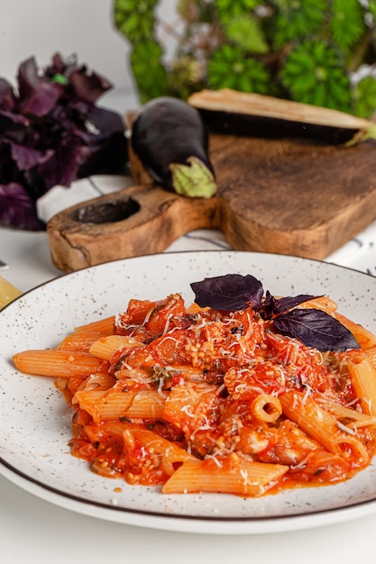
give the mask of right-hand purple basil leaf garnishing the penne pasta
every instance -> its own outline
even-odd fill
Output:
[[[317,350],[360,349],[353,333],[326,312],[317,309],[293,309],[274,319],[275,329],[289,337],[295,337],[307,347]]]

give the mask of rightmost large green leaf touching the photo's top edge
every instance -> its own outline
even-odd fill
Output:
[[[333,39],[344,50],[359,41],[366,30],[359,0],[333,0],[330,28]]]

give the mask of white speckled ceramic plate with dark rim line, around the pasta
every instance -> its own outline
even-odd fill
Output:
[[[189,283],[252,274],[273,295],[333,297],[340,311],[376,332],[376,278],[315,260],[236,251],[165,253],[118,260],[56,278],[0,313],[0,471],[36,496],[117,523],[206,533],[281,532],[338,523],[376,511],[376,466],[331,487],[243,499],[214,494],[163,496],[101,478],[69,454],[69,407],[50,378],[27,377],[14,352],[56,345],[74,326],[126,308],[131,297],[160,299]],[[121,488],[116,492],[115,488]]]

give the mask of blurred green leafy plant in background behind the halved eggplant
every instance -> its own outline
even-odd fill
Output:
[[[159,7],[114,2],[142,103],[230,87],[362,117],[376,108],[376,0],[179,0],[173,24]]]

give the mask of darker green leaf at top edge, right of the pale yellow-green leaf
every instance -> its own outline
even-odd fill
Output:
[[[315,33],[326,20],[326,0],[290,0],[279,2],[275,15],[274,45],[277,49]]]

